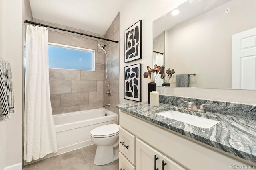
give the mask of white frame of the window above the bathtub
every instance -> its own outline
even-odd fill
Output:
[[[95,50],[93,49],[86,49],[86,48],[81,48],[81,47],[75,47],[71,45],[64,45],[64,44],[58,44],[58,43],[48,43],[48,45],[54,46],[54,47],[64,47],[66,49],[77,49],[77,50],[82,50],[82,51],[87,51],[87,52],[92,52],[92,70],[81,70],[81,71],[95,71]],[[78,69],[67,69],[67,68],[50,68],[50,69],[62,69],[62,70],[78,70]]]

